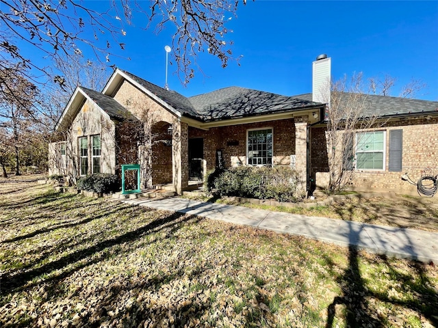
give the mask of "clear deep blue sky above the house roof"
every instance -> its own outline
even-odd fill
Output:
[[[108,1],[84,1],[107,5]],[[146,1],[144,2],[146,3]],[[147,6],[147,3],[145,7]],[[144,31],[140,16],[126,27],[121,53],[110,64],[164,87],[166,53],[171,29],[156,36]],[[240,66],[227,68],[216,57],[201,53],[204,74],[183,87],[169,66],[170,89],[192,96],[236,85],[287,96],[311,92],[311,67],[326,53],[332,60],[332,78],[354,72],[365,77],[395,77],[392,95],[412,78],[428,86],[417,98],[438,100],[438,1],[268,1],[241,2],[233,29],[233,54],[243,55]]]

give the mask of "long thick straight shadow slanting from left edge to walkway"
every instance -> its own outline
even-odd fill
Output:
[[[157,232],[164,228],[168,228],[169,226],[172,226],[172,231],[176,231],[181,228],[185,221],[189,221],[192,219],[192,217],[184,217],[184,215],[181,213],[166,215],[165,217],[147,223],[145,226],[137,228],[136,230],[126,232],[125,234],[116,236],[115,238],[101,241],[99,243],[96,243],[96,245],[86,247],[85,249],[80,249],[71,254],[63,256],[59,260],[44,264],[42,265],[42,267],[31,269],[29,271],[24,271],[16,275],[10,275],[9,273],[6,273],[2,277],[0,277],[2,281],[0,291],[8,293],[23,290],[23,288],[30,288],[31,286],[38,284],[38,282],[31,282],[29,284],[29,282],[34,278],[41,275],[49,275],[50,273],[58,270],[63,270],[63,272],[57,275],[53,275],[48,279],[43,279],[43,281],[49,282],[53,280],[64,279],[65,277],[68,277],[68,275],[71,275],[73,272],[78,271],[79,269],[82,269],[84,267],[88,267],[90,264],[100,262],[101,260],[109,256],[104,252],[106,249],[111,249],[111,247],[114,247],[115,245],[135,241],[145,234],[149,234],[153,231]],[[201,218],[199,218],[198,220],[201,220]],[[92,259],[93,256],[96,256],[96,258]],[[66,269],[66,267],[70,266],[70,264],[73,264],[73,266],[71,266],[70,269]]]

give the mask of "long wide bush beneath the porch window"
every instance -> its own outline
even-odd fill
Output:
[[[218,195],[251,197],[279,202],[302,199],[296,187],[298,176],[289,167],[233,167],[210,172],[207,190]]]

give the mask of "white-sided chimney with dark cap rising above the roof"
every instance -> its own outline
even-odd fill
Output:
[[[331,58],[319,55],[312,68],[312,100],[330,105]]]

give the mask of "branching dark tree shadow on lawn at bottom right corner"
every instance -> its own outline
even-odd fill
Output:
[[[361,231],[354,231],[350,228],[350,236],[354,236],[352,240],[356,240]],[[435,327],[438,327],[438,317],[436,309],[438,308],[438,293],[431,286],[431,282],[425,274],[424,267],[427,264],[411,261],[415,271],[420,276],[420,281],[415,282],[415,279],[410,275],[404,275],[394,269],[393,265],[387,260],[386,256],[378,256],[384,261],[386,267],[390,271],[392,279],[391,286],[400,288],[402,292],[410,292],[411,290],[416,297],[413,299],[404,299],[389,297],[387,290],[385,292],[373,292],[372,286],[367,286],[367,283],[361,275],[359,268],[359,250],[354,245],[348,248],[348,268],[342,275],[338,275],[337,282],[342,289],[342,296],[337,296],[333,299],[333,303],[327,308],[328,318],[326,328],[333,327],[333,321],[336,316],[336,305],[345,305],[346,308],[346,324],[348,327],[386,327],[396,316],[386,316],[379,314],[374,308],[377,302],[383,302],[389,305],[393,310],[393,305],[399,305],[403,308],[408,308],[423,315],[430,320]],[[378,262],[378,261],[377,261]],[[372,265],[374,263],[370,263]],[[380,277],[376,277],[378,279]],[[399,286],[399,287],[398,287]],[[407,300],[408,299],[408,300]],[[373,303],[370,303],[373,300]],[[398,320],[397,318],[395,320]],[[402,319],[400,319],[401,321]],[[399,323],[396,323],[399,324]]]

